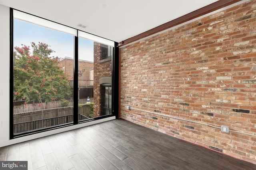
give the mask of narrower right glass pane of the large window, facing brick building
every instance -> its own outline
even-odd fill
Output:
[[[78,119],[111,114],[111,94],[105,98],[101,84],[111,83],[112,47],[78,39]],[[111,91],[111,84],[106,90]],[[102,95],[104,98],[102,98]],[[107,102],[107,107],[105,104]],[[110,104],[109,104],[110,103]],[[104,106],[104,107],[101,107]]]

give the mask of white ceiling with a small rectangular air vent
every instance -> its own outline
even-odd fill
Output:
[[[0,0],[0,4],[121,42],[216,1]],[[88,27],[78,27],[79,23]]]

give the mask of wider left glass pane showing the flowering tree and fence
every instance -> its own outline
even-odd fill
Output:
[[[72,123],[74,36],[14,20],[13,41],[14,135]]]

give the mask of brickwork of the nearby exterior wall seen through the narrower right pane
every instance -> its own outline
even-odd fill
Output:
[[[94,84],[93,84],[93,96],[94,96],[94,117],[100,116],[100,78],[111,77],[111,60],[106,62],[100,62],[101,50],[100,43],[94,42]]]

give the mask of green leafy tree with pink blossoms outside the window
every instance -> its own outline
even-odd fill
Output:
[[[14,100],[44,103],[72,98],[68,79],[58,66],[58,58],[49,45],[31,43],[14,47]],[[25,104],[26,104],[25,103]]]

